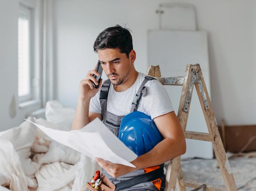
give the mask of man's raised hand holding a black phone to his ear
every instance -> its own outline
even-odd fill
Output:
[[[96,95],[102,84],[102,67],[100,62],[98,62],[94,69],[88,71],[87,75],[83,80],[80,81],[79,87],[79,98],[80,99],[91,99]],[[98,80],[98,81],[97,81]]]

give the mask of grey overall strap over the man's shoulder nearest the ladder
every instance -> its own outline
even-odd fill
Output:
[[[151,76],[145,76],[145,79],[141,83],[141,86],[139,87],[136,95],[134,96],[134,100],[132,102],[131,113],[134,112],[134,111],[137,111],[138,106],[139,106],[139,101],[141,100],[141,97],[145,96],[147,94],[147,89],[145,87],[145,84],[148,81],[151,81],[151,80],[155,80],[155,78],[153,78]]]

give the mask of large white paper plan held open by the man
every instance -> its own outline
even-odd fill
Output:
[[[133,161],[137,158],[137,155],[126,147],[99,118],[96,118],[82,129],[72,131],[51,129],[39,125],[36,119],[33,124],[53,140],[90,158],[98,157],[112,163],[135,167],[129,161]]]

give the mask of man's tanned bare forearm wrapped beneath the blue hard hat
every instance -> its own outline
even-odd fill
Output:
[[[139,156],[132,164],[136,169],[143,169],[167,162],[186,152],[186,142],[179,142],[174,138],[165,138],[158,143],[151,151]]]

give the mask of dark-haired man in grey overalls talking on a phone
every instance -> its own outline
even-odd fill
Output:
[[[132,106],[134,96],[141,84],[145,82],[146,75],[135,70],[136,53],[128,29],[120,25],[105,29],[96,38],[94,51],[98,53],[98,60],[109,80],[104,82],[104,88],[94,88],[91,81],[96,85],[97,82],[93,75],[98,76],[99,74],[92,70],[80,82],[79,98],[72,129],[80,129],[98,117],[118,136],[122,117],[134,111],[131,108],[135,108],[135,110],[151,116],[164,138],[148,153],[131,162],[136,168],[113,164],[96,158],[104,175],[114,184],[117,184],[141,175],[141,173],[157,169],[164,162],[184,154],[186,152],[184,133],[174,113],[171,100],[160,82],[147,79],[144,85],[147,89],[146,95],[141,97],[138,106]],[[102,80],[99,87],[101,85]],[[102,97],[100,92],[103,91],[107,94],[102,93],[105,95]],[[142,182],[130,188],[122,189],[122,191],[158,191],[163,189],[164,182],[164,177],[159,177],[155,181]]]

